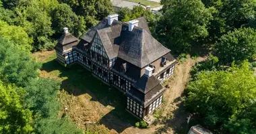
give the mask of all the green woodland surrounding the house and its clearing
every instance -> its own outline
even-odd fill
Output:
[[[183,56],[207,55],[191,70],[185,108],[216,133],[256,133],[256,0],[162,0],[145,16],[152,35]],[[63,27],[79,38],[107,15],[110,0],[0,0],[0,133],[90,133],[59,117],[60,85],[41,78],[31,54],[53,50]]]

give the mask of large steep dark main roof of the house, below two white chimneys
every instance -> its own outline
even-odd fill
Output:
[[[164,56],[170,50],[162,46],[152,37],[145,17],[139,17],[138,27],[129,31],[129,24],[121,21],[113,21],[111,26],[108,20],[103,19],[82,36],[82,40],[92,42],[98,32],[108,58],[119,57],[139,68],[148,66],[158,58]]]

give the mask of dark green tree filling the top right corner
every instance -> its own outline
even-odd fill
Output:
[[[209,32],[213,42],[223,34],[249,24],[255,19],[255,0],[203,0],[206,7],[214,7],[214,19],[211,21]]]

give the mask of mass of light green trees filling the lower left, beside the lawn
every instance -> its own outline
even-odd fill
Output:
[[[0,38],[0,133],[82,133],[59,117],[60,83],[38,78],[40,64],[28,52]]]

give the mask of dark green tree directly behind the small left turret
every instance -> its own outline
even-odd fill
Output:
[[[71,7],[65,3],[59,4],[53,10],[52,18],[52,27],[57,32],[57,35],[63,33],[63,27],[68,27],[69,31],[77,37],[82,36],[86,30],[84,17],[78,17],[73,13]]]

